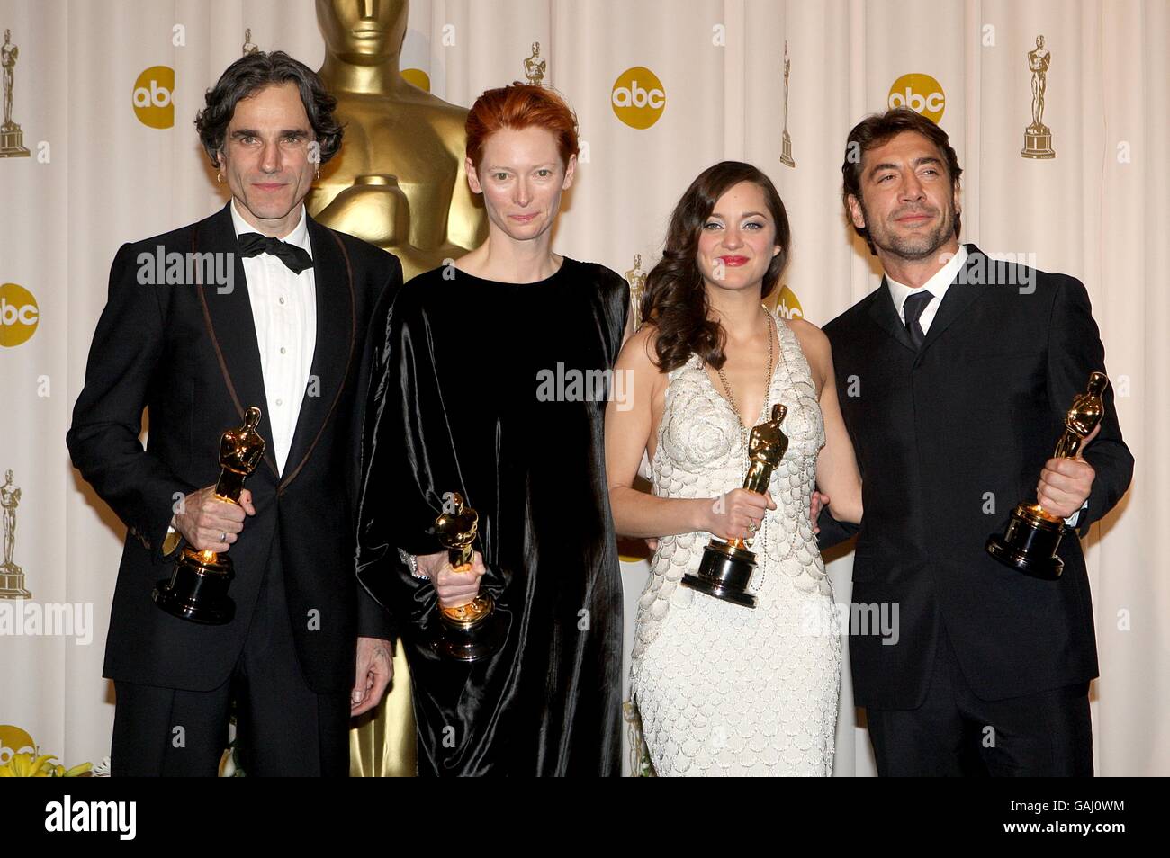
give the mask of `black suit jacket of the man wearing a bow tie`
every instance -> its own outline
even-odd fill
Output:
[[[347,691],[359,631],[391,632],[388,615],[356,586],[353,534],[369,320],[379,296],[401,285],[402,269],[394,256],[309,217],[317,337],[310,383],[284,471],[277,473],[228,206],[118,250],[74,408],[67,437],[74,465],[129,528],[104,676],[193,691],[221,685],[242,651],[264,570],[278,560],[305,679],[318,693]],[[185,270],[171,278],[180,283],[143,284],[157,274],[158,255],[174,251],[214,254],[208,258],[234,272],[232,289]],[[178,556],[161,553],[176,498],[215,483],[220,436],[240,425],[253,404],[264,411],[259,431],[268,447],[246,483],[256,514],[228,553],[235,618],[219,627],[177,620],[151,601],[154,583],[170,577]]]

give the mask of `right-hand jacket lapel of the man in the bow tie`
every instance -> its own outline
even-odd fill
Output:
[[[331,230],[311,217],[309,241],[312,244],[317,342],[280,490],[296,478],[312,455],[349,375],[357,338],[353,270],[345,247]]]

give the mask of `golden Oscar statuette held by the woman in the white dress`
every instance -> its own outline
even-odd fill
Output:
[[[777,403],[772,406],[771,420],[751,430],[748,443],[750,464],[743,480],[743,487],[748,491],[759,494],[768,491],[772,471],[789,449],[787,436],[780,431],[780,423],[787,413],[787,406]],[[756,568],[756,555],[749,551],[750,545],[751,538],[724,542],[713,537],[703,548],[698,573],[683,575],[682,586],[727,602],[755,608],[756,597],[748,593],[751,573]]]

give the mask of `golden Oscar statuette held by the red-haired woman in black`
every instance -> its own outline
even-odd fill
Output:
[[[463,503],[459,492],[449,492],[443,499],[443,511],[435,519],[435,535],[447,548],[450,568],[469,573],[480,516]],[[495,607],[489,593],[481,593],[467,604],[440,607],[435,650],[460,662],[475,662],[494,653],[503,643],[503,624]]]

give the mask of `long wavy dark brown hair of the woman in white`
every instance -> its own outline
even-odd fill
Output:
[[[708,167],[674,207],[662,258],[646,278],[642,318],[658,328],[654,362],[662,372],[682,366],[691,353],[716,368],[727,360],[723,352],[727,333],[718,321],[708,318],[710,302],[698,270],[698,235],[720,198],[742,181],[750,181],[764,192],[768,210],[776,223],[775,241],[780,247],[764,274],[762,297],[770,296],[780,282],[792,234],[787,212],[772,180],[743,161],[721,161]]]

